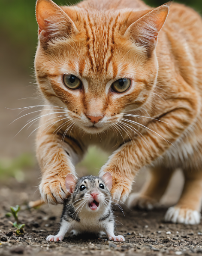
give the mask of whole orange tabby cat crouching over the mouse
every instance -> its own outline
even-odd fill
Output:
[[[168,14],[169,13],[169,14]],[[184,190],[166,221],[200,222],[202,202],[202,19],[173,3],[38,0],[35,68],[45,98],[36,140],[45,202],[63,203],[65,177],[90,145],[111,152],[115,200],[136,173],[151,181],[130,206],[151,208],[180,167]]]

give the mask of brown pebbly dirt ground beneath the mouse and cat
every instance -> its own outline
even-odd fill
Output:
[[[39,177],[38,169],[26,172],[26,182],[16,182],[10,178],[0,184],[0,255],[200,255],[202,254],[202,224],[200,225],[175,225],[164,223],[165,206],[151,212],[130,210],[123,206],[124,214],[114,207],[117,216],[117,234],[125,236],[124,243],[110,242],[103,237],[65,237],[63,242],[47,242],[49,234],[55,234],[60,220],[62,206],[41,206],[39,209],[27,210],[26,202],[39,198],[36,185]],[[142,186],[145,172],[139,175],[136,189]],[[180,181],[177,173],[173,181]],[[178,183],[178,182],[177,182]],[[177,184],[176,183],[176,184]],[[164,200],[173,200],[172,193],[179,194],[175,182]],[[167,199],[166,199],[167,198]],[[177,197],[175,197],[175,200]],[[171,203],[171,200],[170,200]],[[25,224],[25,234],[22,237],[15,235],[10,221],[12,217],[5,217],[9,206],[21,205],[19,220]],[[162,203],[163,205],[163,203]]]

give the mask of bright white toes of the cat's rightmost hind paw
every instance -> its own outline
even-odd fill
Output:
[[[200,219],[200,212],[177,206],[170,207],[165,215],[165,221],[173,223],[196,225],[200,223]]]

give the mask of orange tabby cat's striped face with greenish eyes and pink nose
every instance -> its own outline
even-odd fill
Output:
[[[45,3],[43,9],[59,8],[50,0],[38,2],[38,9]],[[71,18],[70,28],[61,25],[65,15]],[[87,12],[63,7],[59,25],[56,18],[54,25],[37,19],[40,44],[35,67],[40,90],[50,105],[66,108],[75,125],[88,133],[104,131],[125,111],[141,107],[155,85],[154,45],[143,45],[141,35],[139,42],[133,40],[131,26],[140,14],[133,21],[130,15],[128,10]],[[49,16],[51,20],[52,9]],[[154,44],[156,37],[152,40]]]

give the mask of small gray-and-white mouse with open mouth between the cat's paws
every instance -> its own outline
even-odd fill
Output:
[[[124,241],[121,235],[114,234],[115,219],[112,212],[112,175],[106,172],[103,177],[66,176],[66,189],[71,196],[66,200],[60,218],[60,231],[49,235],[47,241],[62,241],[66,233],[81,234],[103,232],[109,240]]]

